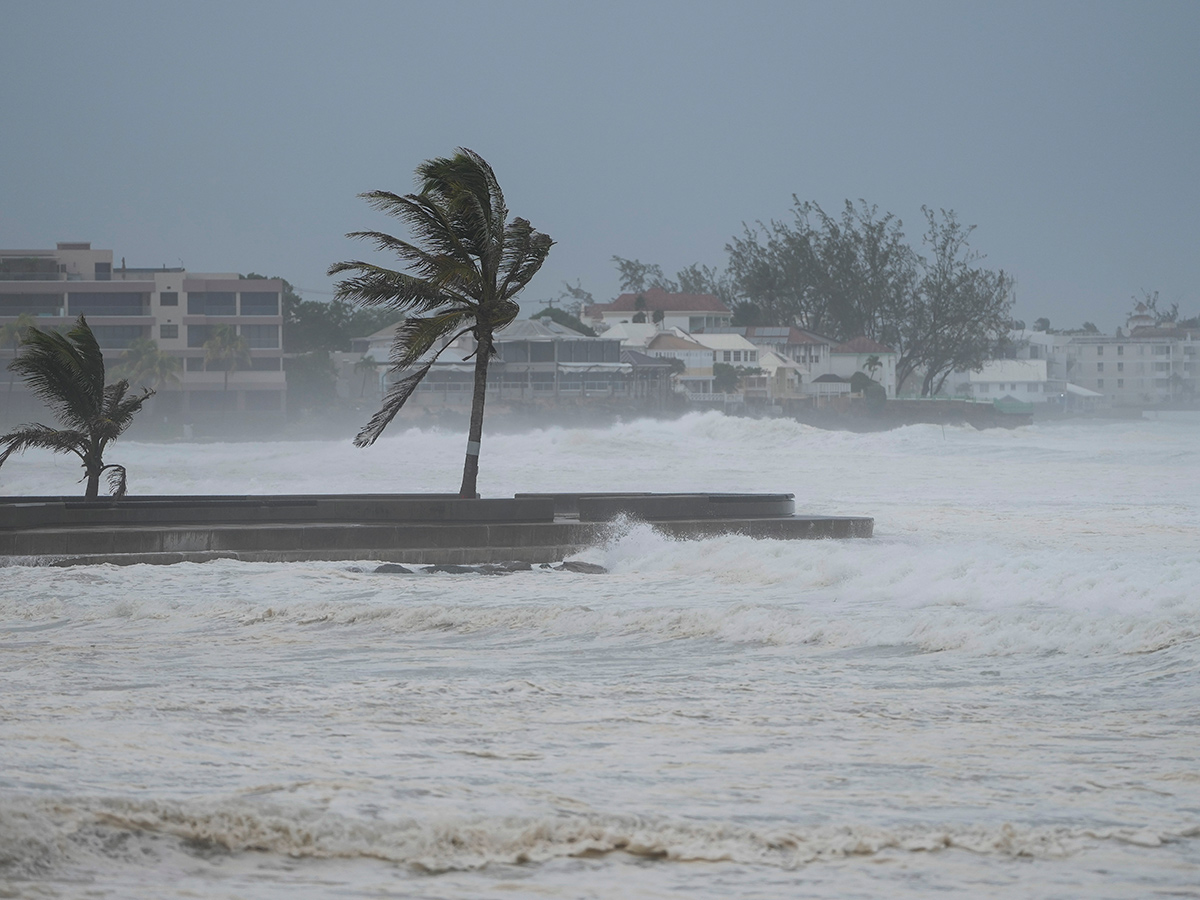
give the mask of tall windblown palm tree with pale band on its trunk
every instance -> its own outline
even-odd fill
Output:
[[[487,362],[496,354],[492,335],[516,318],[520,307],[512,298],[541,268],[553,241],[524,218],[508,221],[496,173],[479,154],[460,148],[450,158],[427,160],[418,167],[416,181],[420,193],[415,194],[360,194],[407,224],[412,242],[382,232],[347,235],[392,251],[409,271],[358,260],[329,268],[330,275],[353,274],[338,282],[338,299],[386,306],[407,316],[391,348],[390,371],[400,377],[354,443],[373,444],[438,356],[469,334],[475,338],[475,390],[460,496],[475,497]]]

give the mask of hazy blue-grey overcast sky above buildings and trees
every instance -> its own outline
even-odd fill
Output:
[[[792,194],[977,224],[1016,313],[1200,313],[1200,4],[0,4],[0,246],[329,292],[469,146],[557,246],[527,308],[613,254],[724,266]],[[311,299],[322,296],[307,294]]]

